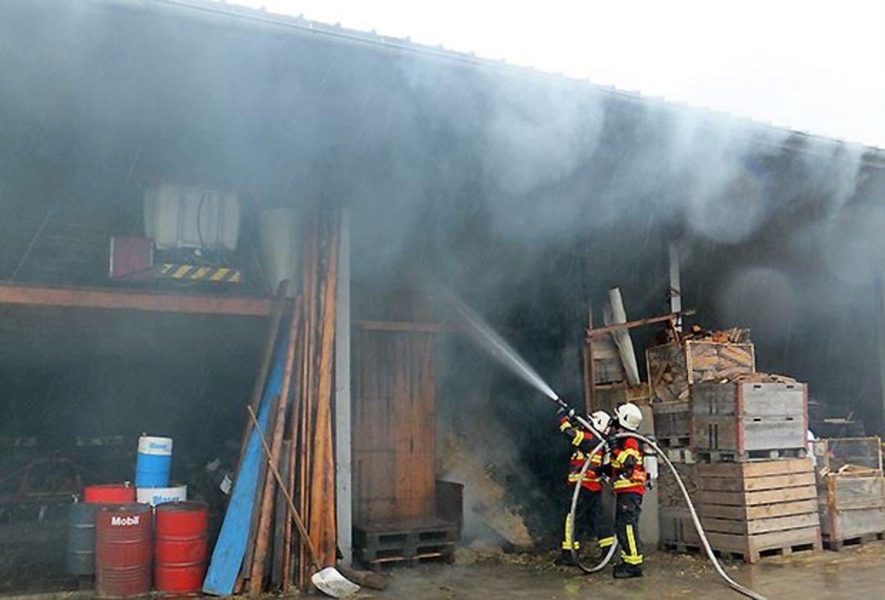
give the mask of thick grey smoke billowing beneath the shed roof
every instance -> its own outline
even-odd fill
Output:
[[[865,149],[161,3],[38,4],[0,3],[4,278],[56,206],[87,214],[103,249],[138,235],[131,207],[151,176],[236,189],[247,212],[342,201],[355,311],[417,319],[412,304],[450,290],[576,401],[589,305],[598,323],[620,286],[629,317],[668,310],[666,244],[680,239],[683,305],[704,325],[751,327],[761,367],[881,422],[885,178]],[[104,283],[101,266],[76,282]],[[500,372],[467,394],[485,381],[469,356],[441,373],[465,392],[441,395],[441,422],[505,417],[504,439],[477,451],[505,449],[514,481],[560,485],[550,403]]]

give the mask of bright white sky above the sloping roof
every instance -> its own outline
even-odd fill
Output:
[[[885,148],[885,0],[228,0]]]

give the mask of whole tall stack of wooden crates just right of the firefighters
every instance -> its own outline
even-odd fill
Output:
[[[689,340],[647,352],[659,445],[677,466],[714,550],[755,562],[820,549],[812,462],[804,458],[804,384],[755,373],[750,343]],[[659,478],[661,542],[700,539],[667,469]]]

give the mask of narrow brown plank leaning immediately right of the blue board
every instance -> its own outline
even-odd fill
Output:
[[[273,425],[271,439],[271,456],[269,460],[276,467],[280,463],[282,436],[286,428],[286,409],[289,406],[289,390],[292,383],[292,366],[295,364],[295,348],[298,340],[298,326],[301,323],[302,297],[295,300],[292,319],[289,323],[289,342],[286,346],[286,364],[283,371],[280,401],[277,403],[276,420]],[[260,596],[264,588],[265,561],[267,558],[267,542],[270,538],[273,520],[273,477],[266,477],[264,492],[261,495],[260,511],[258,512],[258,529],[255,540],[255,555],[252,558],[252,569],[249,579],[250,596]]]

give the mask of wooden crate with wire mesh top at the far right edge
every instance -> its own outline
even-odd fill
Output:
[[[814,442],[820,526],[831,550],[885,539],[885,477],[878,437]]]

